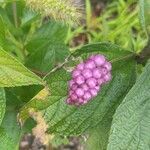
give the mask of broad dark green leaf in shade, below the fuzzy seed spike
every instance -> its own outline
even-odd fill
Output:
[[[54,22],[42,25],[26,45],[30,52],[26,66],[48,72],[63,62],[69,53],[64,44],[66,35],[67,28],[64,25]]]

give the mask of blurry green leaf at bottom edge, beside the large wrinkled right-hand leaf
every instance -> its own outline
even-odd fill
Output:
[[[124,97],[124,95],[123,95]],[[121,102],[122,98],[120,98]],[[108,138],[111,128],[111,123],[113,119],[113,114],[115,113],[116,108],[120,104],[116,103],[108,113],[103,117],[103,120],[94,128],[90,129],[88,134],[88,140],[86,141],[87,150],[106,150],[108,144]]]

